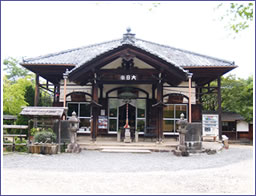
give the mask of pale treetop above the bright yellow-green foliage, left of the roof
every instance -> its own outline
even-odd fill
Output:
[[[17,79],[19,78],[32,75],[30,71],[21,67],[19,65],[19,61],[13,57],[8,57],[4,59],[3,65],[3,70],[6,72],[7,79],[10,80],[12,83],[17,81]]]

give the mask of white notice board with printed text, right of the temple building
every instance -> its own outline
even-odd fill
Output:
[[[203,114],[203,136],[218,136],[219,135],[219,115],[218,114]]]

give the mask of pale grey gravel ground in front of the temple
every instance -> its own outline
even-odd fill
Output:
[[[3,156],[2,194],[255,194],[253,147],[215,155],[102,153]]]

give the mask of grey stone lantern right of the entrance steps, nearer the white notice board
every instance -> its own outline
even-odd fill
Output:
[[[180,134],[180,144],[178,146],[178,150],[181,152],[187,152],[186,146],[185,146],[185,134],[188,132],[187,125],[188,121],[184,119],[184,114],[182,113],[180,115],[180,120],[177,122],[178,125],[178,132]]]

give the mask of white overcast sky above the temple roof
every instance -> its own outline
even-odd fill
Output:
[[[255,73],[255,24],[234,39],[220,21],[219,2],[1,2],[1,57],[36,57],[119,39],[137,38],[235,61],[229,72]],[[229,4],[230,2],[223,2]],[[226,75],[228,75],[226,74]]]

